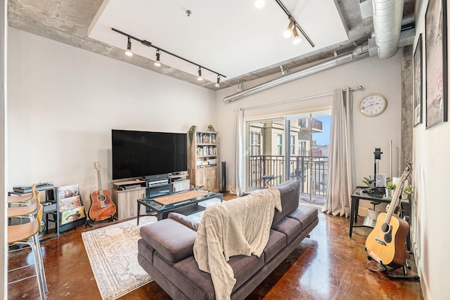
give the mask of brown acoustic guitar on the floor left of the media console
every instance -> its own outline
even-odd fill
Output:
[[[94,222],[96,220],[105,220],[114,218],[115,204],[111,201],[110,190],[103,190],[101,186],[100,163],[94,162],[94,169],[97,170],[98,190],[91,193],[91,208],[89,209],[89,218]]]

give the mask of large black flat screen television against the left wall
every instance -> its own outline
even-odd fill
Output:
[[[113,180],[188,169],[186,133],[112,130]]]

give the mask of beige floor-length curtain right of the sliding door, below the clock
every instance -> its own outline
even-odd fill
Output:
[[[335,89],[331,111],[328,185],[322,211],[333,216],[350,215],[353,190],[353,153],[350,131],[352,103],[350,91]]]

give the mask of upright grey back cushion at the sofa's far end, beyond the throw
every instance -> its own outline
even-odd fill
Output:
[[[281,207],[283,207],[283,211],[275,209],[272,225],[275,225],[285,216],[297,209],[300,197],[300,181],[286,181],[285,183],[281,183],[281,185],[277,185],[275,188],[280,191]]]

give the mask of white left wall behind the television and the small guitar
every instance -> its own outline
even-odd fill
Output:
[[[13,28],[8,42],[9,190],[78,183],[89,209],[94,161],[111,188],[111,129],[214,124],[214,91]]]

